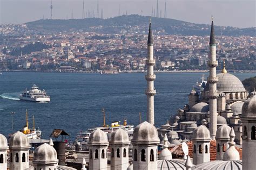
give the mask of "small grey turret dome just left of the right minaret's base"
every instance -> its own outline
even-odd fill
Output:
[[[204,125],[200,125],[193,131],[192,140],[211,140],[210,131]]]

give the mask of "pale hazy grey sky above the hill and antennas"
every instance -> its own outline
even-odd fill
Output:
[[[215,25],[235,27],[255,27],[255,0],[158,0],[164,16],[166,2],[167,18],[184,20],[192,23],[210,24],[211,15]],[[50,18],[50,0],[0,0],[0,24],[25,23],[33,20]],[[97,0],[84,0],[85,13],[97,11]],[[157,0],[99,0],[99,11],[104,10],[104,18],[120,13],[150,16],[156,9]],[[53,19],[82,18],[83,0],[52,0]]]

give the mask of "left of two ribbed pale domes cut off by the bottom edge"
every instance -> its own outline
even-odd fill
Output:
[[[158,160],[157,161],[157,169],[158,170],[168,170],[168,169],[186,169],[185,161],[179,159],[171,159],[171,160]]]

